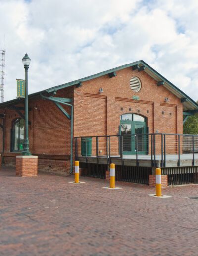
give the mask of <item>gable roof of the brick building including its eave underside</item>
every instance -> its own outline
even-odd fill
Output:
[[[70,87],[70,86],[78,85],[78,84],[83,83],[85,81],[89,81],[89,80],[92,80],[94,78],[98,78],[100,76],[107,75],[107,74],[122,70],[124,68],[133,67],[133,66],[137,66],[137,65],[138,65],[139,68],[144,67],[144,72],[148,73],[148,75],[150,75],[156,81],[163,81],[164,82],[163,86],[165,88],[167,88],[169,91],[171,91],[178,98],[181,99],[182,104],[183,104],[183,110],[185,110],[185,111],[198,110],[198,104],[194,100],[192,100],[188,95],[186,95],[184,92],[182,92],[179,88],[177,88],[174,84],[172,84],[170,81],[168,81],[165,77],[163,77],[161,74],[159,74],[156,70],[154,70],[151,66],[149,66],[143,60],[140,60],[140,61],[137,61],[137,62],[132,62],[132,63],[129,63],[129,64],[125,64],[125,65],[122,65],[122,66],[118,66],[118,67],[115,67],[115,68],[112,68],[112,69],[109,69],[109,70],[106,70],[106,71],[103,71],[103,72],[100,72],[100,73],[97,73],[97,74],[94,74],[94,75],[90,75],[90,76],[87,76],[87,77],[84,77],[84,78],[81,78],[81,79],[78,79],[78,80],[75,80],[75,81],[72,81],[72,82],[64,83],[64,84],[54,86],[54,87],[51,87],[49,89],[40,91],[40,92],[30,94],[29,98],[39,96],[41,93],[50,93],[50,92],[61,90],[61,89],[64,89],[64,88],[67,88],[67,87]],[[10,105],[10,104],[16,104],[16,103],[19,103],[19,102],[21,102],[21,99],[18,99],[18,98],[14,99],[14,100],[11,100],[11,101],[6,101],[6,102],[3,102],[3,103],[0,103],[0,108],[5,107],[5,106]]]

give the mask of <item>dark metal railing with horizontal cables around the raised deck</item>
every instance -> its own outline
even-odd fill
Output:
[[[106,164],[113,158],[135,159],[136,166],[139,161],[148,159],[155,167],[160,161],[161,167],[166,167],[167,160],[191,160],[192,166],[198,159],[198,135],[172,134],[172,133],[146,133],[130,135],[105,135],[75,137],[75,159],[80,156],[88,159],[94,157],[106,158]]]

